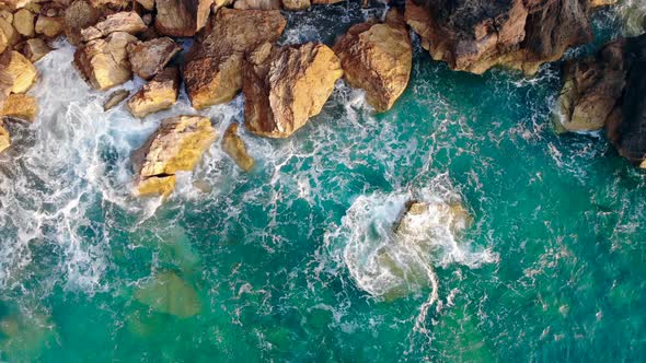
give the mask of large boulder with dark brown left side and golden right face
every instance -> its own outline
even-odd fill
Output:
[[[341,61],[316,43],[263,56],[252,55],[244,66],[245,126],[259,136],[287,138],[321,113],[343,75]]]

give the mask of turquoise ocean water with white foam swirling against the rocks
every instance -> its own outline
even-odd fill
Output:
[[[595,15],[597,44],[631,32],[625,9]],[[382,12],[290,14],[281,42]],[[338,82],[292,138],[243,131],[252,173],[218,140],[161,203],[132,197],[129,156],[186,96],[103,113],[59,42],[0,154],[0,361],[645,360],[644,173],[554,132],[558,63],[473,75],[415,44],[392,110]],[[222,134],[243,102],[204,114]],[[394,234],[412,198],[432,208]]]

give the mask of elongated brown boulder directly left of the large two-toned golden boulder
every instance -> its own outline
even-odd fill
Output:
[[[193,107],[231,101],[242,87],[244,54],[278,40],[286,24],[279,11],[220,9],[184,69]]]

